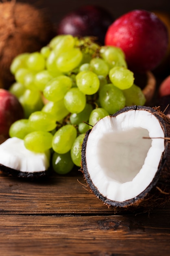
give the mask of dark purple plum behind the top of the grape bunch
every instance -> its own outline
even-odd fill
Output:
[[[113,20],[111,13],[104,8],[87,5],[63,17],[59,22],[57,32],[72,36],[95,36],[103,45],[106,31]]]

